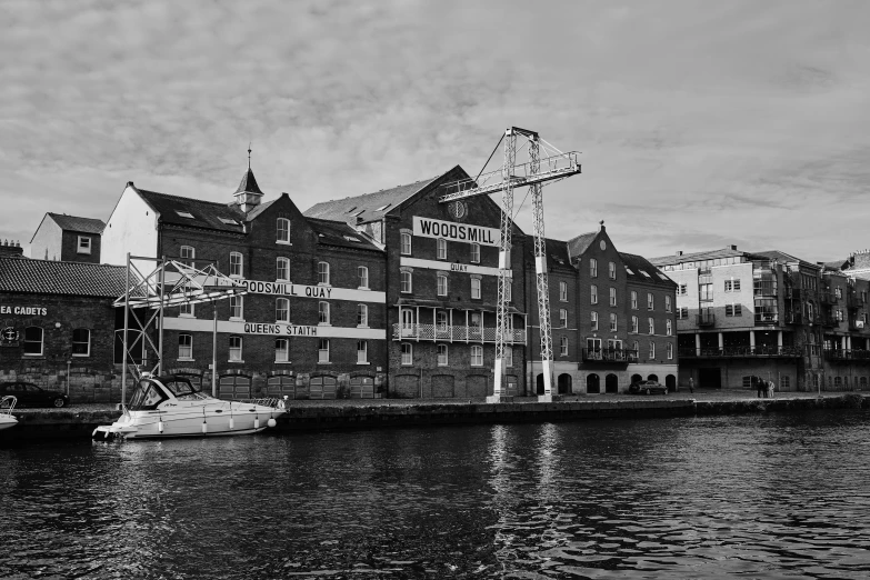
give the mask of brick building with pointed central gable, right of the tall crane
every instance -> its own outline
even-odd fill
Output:
[[[533,243],[527,244],[527,269]],[[676,289],[640,256],[617,251],[599,231],[547,240],[553,374],[559,393],[624,392],[632,381],[677,388]],[[533,270],[526,286],[537,303]],[[538,311],[530,311],[531,353],[540,350]],[[541,361],[529,360],[529,382],[543,392]]]

